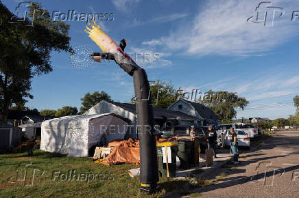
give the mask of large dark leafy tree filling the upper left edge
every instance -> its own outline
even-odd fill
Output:
[[[22,22],[0,1],[0,109],[6,122],[12,104],[25,104],[33,76],[52,71],[51,52],[69,51],[69,25],[53,21],[32,3]],[[40,12],[36,12],[40,11]],[[10,23],[13,22],[13,23]]]

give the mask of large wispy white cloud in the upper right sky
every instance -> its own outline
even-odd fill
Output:
[[[161,44],[168,49],[190,55],[263,55],[272,48],[294,38],[298,23],[291,22],[291,12],[298,2],[273,1],[272,5],[285,9],[274,26],[247,22],[255,14],[260,1],[208,1],[189,24],[144,44]]]

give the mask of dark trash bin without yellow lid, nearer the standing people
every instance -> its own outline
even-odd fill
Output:
[[[178,141],[178,158],[180,158],[180,169],[189,169],[192,163],[193,141],[180,139]]]

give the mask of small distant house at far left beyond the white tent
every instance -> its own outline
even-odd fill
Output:
[[[48,119],[53,119],[53,116],[42,116],[42,115],[25,115],[21,119],[22,134],[25,138],[37,138],[41,136],[41,125],[42,122]]]

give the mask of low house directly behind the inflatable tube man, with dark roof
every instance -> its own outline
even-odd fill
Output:
[[[154,124],[158,125],[160,130],[167,130],[174,133],[175,126],[191,126],[200,125],[200,119],[192,115],[187,115],[180,111],[171,111],[169,109],[164,109],[160,107],[153,107],[154,111]],[[121,102],[111,102],[106,100],[101,100],[98,104],[91,109],[86,111],[86,115],[101,114],[101,113],[115,113],[121,115],[127,119],[130,119],[134,129],[130,137],[137,138],[136,135],[136,104],[121,103]],[[186,129],[186,127],[184,128]],[[188,131],[186,131],[188,133]]]

